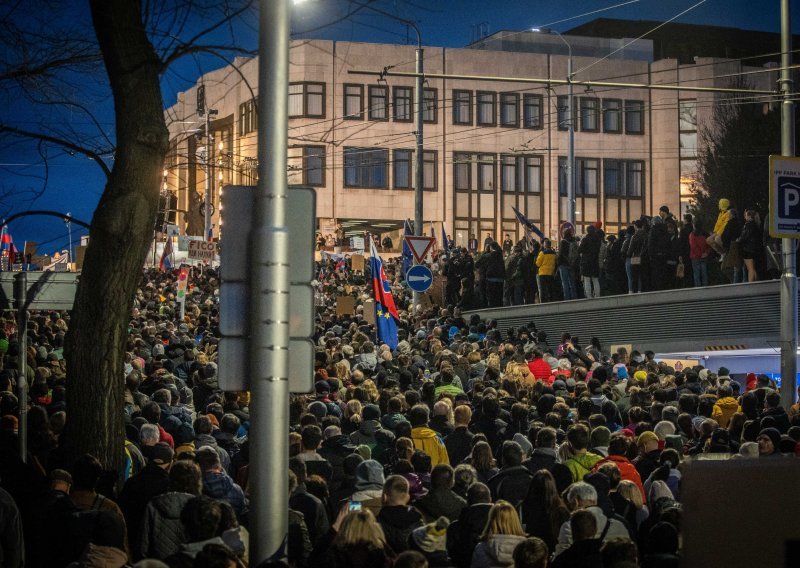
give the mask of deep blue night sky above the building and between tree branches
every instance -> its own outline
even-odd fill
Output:
[[[361,0],[359,0],[361,1]],[[413,20],[422,33],[423,43],[430,46],[462,47],[473,39],[473,28],[485,24],[489,33],[500,30],[522,30],[550,26],[565,31],[598,17],[631,20],[665,21],[687,10],[697,0],[640,0],[597,14],[584,15],[594,10],[620,4],[624,0],[375,0],[373,5],[396,15]],[[778,0],[706,0],[681,16],[676,22],[739,27],[759,31],[780,31]],[[793,30],[800,30],[800,2],[793,3]],[[296,6],[293,18],[293,37],[325,38],[336,40],[372,41],[386,43],[415,43],[412,30],[386,16],[358,10],[354,16],[344,18],[357,6],[348,0],[306,0]],[[344,18],[344,19],[342,19]],[[331,22],[342,21],[330,25]],[[257,25],[257,16],[252,18]],[[319,29],[318,29],[319,28]],[[315,30],[308,33],[306,30]],[[241,36],[248,46],[256,47],[256,33],[243,29]],[[171,70],[164,80],[165,105],[171,105],[175,93],[190,87],[203,72],[219,67],[218,60],[184,62]],[[11,111],[0,112],[0,122],[13,123],[2,118]],[[20,112],[24,112],[21,109]],[[110,101],[100,109],[104,128],[113,135],[113,110]],[[11,198],[10,211],[27,209],[52,209],[70,211],[75,217],[89,222],[103,190],[103,176],[97,166],[85,157],[60,155],[49,162],[50,180],[47,191],[32,202],[30,199]],[[41,172],[41,160],[36,153],[18,152],[13,147],[0,149],[0,168],[6,190],[24,191],[38,179],[30,177]],[[41,252],[53,252],[67,246],[67,231],[63,223],[46,218],[28,218],[10,227],[14,242],[34,240]],[[84,233],[74,227],[73,238]]]

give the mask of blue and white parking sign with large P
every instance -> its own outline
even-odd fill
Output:
[[[800,158],[770,156],[769,233],[800,238]]]

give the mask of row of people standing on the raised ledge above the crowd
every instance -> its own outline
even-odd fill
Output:
[[[601,223],[578,237],[573,228],[560,240],[525,239],[502,243],[487,233],[483,249],[470,235],[467,247],[453,247],[441,259],[447,302],[465,309],[499,307],[634,294],[709,285],[709,268],[719,283],[776,278],[777,255],[758,212],[739,214],[719,202],[713,227],[691,214],[676,219],[667,206],[643,215],[618,234]]]

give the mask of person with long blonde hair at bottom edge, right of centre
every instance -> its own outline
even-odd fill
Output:
[[[489,511],[481,541],[472,553],[471,568],[513,566],[514,549],[526,537],[513,505],[508,501],[498,501]]]

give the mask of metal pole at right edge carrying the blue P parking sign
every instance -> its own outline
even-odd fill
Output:
[[[792,101],[792,29],[789,0],[781,0],[781,154],[795,155],[794,102]],[[797,255],[796,241],[782,239],[781,274],[781,403],[788,410],[797,390]]]

